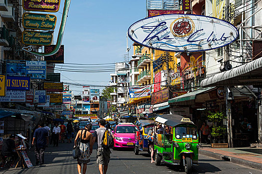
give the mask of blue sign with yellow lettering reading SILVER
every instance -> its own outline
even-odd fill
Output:
[[[7,76],[6,89],[30,90],[30,77]]]

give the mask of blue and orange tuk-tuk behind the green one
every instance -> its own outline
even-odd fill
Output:
[[[146,151],[149,153],[148,140],[146,139],[147,133],[154,126],[154,121],[152,120],[139,120],[135,122],[139,131],[136,131],[134,139],[134,154],[138,155],[139,151]]]

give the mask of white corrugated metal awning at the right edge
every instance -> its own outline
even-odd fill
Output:
[[[262,58],[204,79],[201,87],[262,85]]]

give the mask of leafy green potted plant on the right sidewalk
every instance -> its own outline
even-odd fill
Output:
[[[222,140],[220,140],[220,137],[222,135],[225,135],[226,128],[223,125],[223,119],[227,118],[223,112],[208,112],[208,120],[210,122],[213,122],[213,126],[211,129],[211,136],[215,139],[213,140],[213,143],[223,143]]]

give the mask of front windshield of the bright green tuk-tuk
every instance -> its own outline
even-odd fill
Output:
[[[176,127],[175,137],[176,139],[182,139],[182,138],[197,139],[197,129],[195,127]]]

